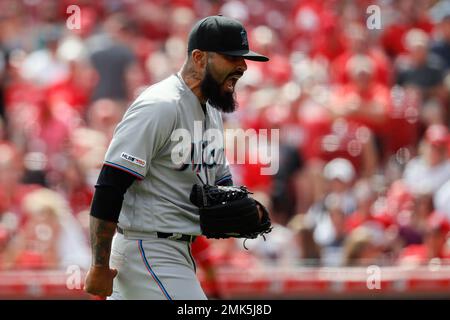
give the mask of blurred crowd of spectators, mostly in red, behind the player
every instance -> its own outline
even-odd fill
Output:
[[[179,70],[193,23],[217,13],[271,59],[247,63],[225,126],[279,129],[280,169],[232,165],[274,230],[198,238],[206,274],[450,258],[450,1],[3,0],[0,269],[89,265],[89,206],[116,124]]]

